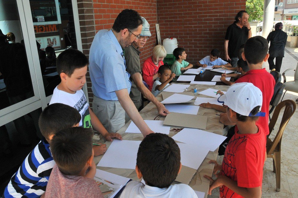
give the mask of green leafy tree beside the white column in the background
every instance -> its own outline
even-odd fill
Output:
[[[246,0],[246,12],[249,22],[263,21],[264,0]]]

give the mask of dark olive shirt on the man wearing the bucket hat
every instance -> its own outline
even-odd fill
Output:
[[[141,64],[140,64],[140,51],[138,48],[136,48],[133,44],[129,45],[125,48],[125,63],[126,63],[126,71],[132,76],[134,73],[140,73],[141,72]],[[136,87],[134,81],[132,78],[129,79],[132,83],[131,85],[131,92],[129,93],[129,96],[131,100],[136,105],[136,108],[139,109],[141,106],[141,92]]]

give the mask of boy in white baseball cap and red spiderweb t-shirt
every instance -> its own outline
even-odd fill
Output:
[[[262,92],[252,83],[235,83],[218,98],[223,103],[229,120],[236,123],[235,134],[226,147],[223,163],[216,161],[216,180],[211,181],[208,194],[220,187],[220,197],[261,197],[263,166],[266,159],[266,134],[256,123],[263,102]]]

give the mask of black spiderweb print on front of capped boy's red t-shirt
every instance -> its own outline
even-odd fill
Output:
[[[226,177],[229,177],[232,180],[237,179],[237,170],[235,167],[235,152],[237,151],[238,147],[245,143],[247,140],[246,136],[241,137],[235,137],[235,135],[232,136],[231,140],[228,143],[228,146],[226,147],[226,151],[224,154],[223,163],[221,165],[222,168],[222,175],[225,175]],[[219,189],[220,197],[221,198],[231,198],[231,197],[239,197],[240,195],[236,194],[234,191],[223,185],[222,188]],[[241,196],[240,196],[241,197]]]

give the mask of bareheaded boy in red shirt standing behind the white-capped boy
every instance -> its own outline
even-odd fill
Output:
[[[263,104],[261,111],[265,112],[266,115],[260,117],[257,123],[263,127],[266,135],[269,134],[269,103],[273,96],[275,86],[273,76],[267,72],[265,68],[262,69],[263,62],[267,61],[268,57],[268,41],[262,36],[249,38],[245,43],[244,52],[242,53],[242,58],[247,62],[249,71],[235,81],[235,83],[252,83],[262,91]],[[219,121],[225,125],[232,125],[225,113],[221,114]]]

